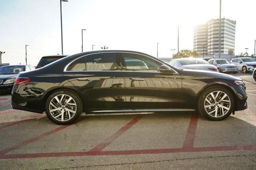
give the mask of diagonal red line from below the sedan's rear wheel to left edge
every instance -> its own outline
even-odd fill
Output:
[[[78,123],[79,121],[82,121],[82,120],[83,120],[83,119],[80,119],[80,120],[76,121],[75,123]],[[75,123],[74,123],[74,124],[75,124]],[[62,129],[65,129],[65,128],[67,128],[67,127],[70,127],[71,125],[74,125],[74,124],[62,125],[62,126],[56,128],[56,129],[53,129],[53,130],[51,130],[51,131],[48,131],[48,132],[46,132],[46,133],[44,133],[44,134],[42,134],[42,135],[39,135],[39,136],[34,137],[34,138],[32,138],[32,139],[28,139],[28,140],[26,140],[26,141],[24,141],[24,142],[22,142],[22,143],[19,143],[19,144],[17,144],[17,145],[14,145],[14,146],[10,147],[10,148],[1,150],[1,151],[0,151],[0,155],[6,154],[6,153],[8,153],[8,152],[11,152],[12,150],[16,150],[16,149],[18,149],[18,148],[20,148],[20,147],[23,147],[23,146],[25,146],[25,145],[28,145],[29,143],[34,142],[34,141],[38,141],[39,139],[42,139],[42,138],[44,138],[44,137],[47,137],[47,136],[49,136],[49,135],[51,135],[51,134],[53,134],[53,133],[56,133],[56,132],[58,132],[58,131],[60,131],[60,130],[62,130]]]

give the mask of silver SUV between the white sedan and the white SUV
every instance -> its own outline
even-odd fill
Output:
[[[238,72],[236,64],[231,63],[227,59],[210,59],[208,62],[216,66],[219,72],[232,72],[233,74]]]

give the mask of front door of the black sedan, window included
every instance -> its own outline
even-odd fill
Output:
[[[178,73],[159,71],[163,63],[136,53],[121,53],[126,109],[182,108],[182,81]]]

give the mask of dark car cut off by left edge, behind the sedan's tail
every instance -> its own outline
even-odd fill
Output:
[[[0,92],[11,92],[15,78],[22,71],[30,71],[35,68],[30,65],[9,65],[0,67]]]

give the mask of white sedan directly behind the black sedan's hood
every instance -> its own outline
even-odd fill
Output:
[[[206,70],[206,71],[214,71],[218,72],[216,66],[211,65],[207,61],[203,59],[197,58],[181,58],[181,59],[173,59],[169,62],[171,66],[174,66],[178,69],[195,69],[195,70]]]

